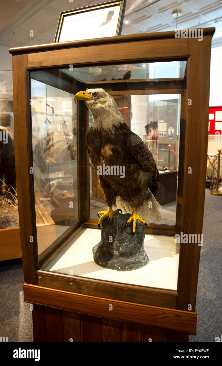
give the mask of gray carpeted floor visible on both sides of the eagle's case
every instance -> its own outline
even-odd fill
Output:
[[[190,342],[214,342],[222,334],[222,198],[206,190],[203,247],[197,288],[197,335]],[[0,262],[0,336],[33,342],[32,311],[23,300],[22,260]]]

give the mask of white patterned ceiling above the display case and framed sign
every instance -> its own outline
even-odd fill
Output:
[[[0,45],[19,47],[51,43],[61,11],[102,3],[86,0],[0,0]],[[147,8],[137,11],[144,6]],[[222,0],[127,0],[122,34],[148,33],[176,29],[173,10],[182,10],[178,28],[215,27],[212,46],[222,45]],[[83,26],[87,26],[83,25]],[[33,30],[34,37],[30,37]]]

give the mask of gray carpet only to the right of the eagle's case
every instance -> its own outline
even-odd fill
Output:
[[[222,197],[206,189],[203,246],[197,286],[197,333],[190,342],[215,342],[222,335]]]

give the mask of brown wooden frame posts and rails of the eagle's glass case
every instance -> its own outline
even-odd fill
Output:
[[[37,236],[34,212],[34,183],[33,175],[29,173],[32,167],[32,131],[30,123],[30,71],[59,70],[77,66],[92,66],[101,64],[120,64],[127,62],[157,62],[157,61],[187,61],[186,89],[181,80],[174,81],[173,93],[185,93],[184,102],[181,104],[181,121],[185,130],[181,130],[183,141],[180,141],[180,153],[184,164],[179,166],[181,186],[178,186],[177,210],[180,212],[181,222],[177,226],[148,225],[147,233],[174,235],[182,231],[184,234],[201,234],[204,212],[206,156],[208,141],[208,113],[209,113],[209,87],[210,87],[210,51],[211,38],[215,28],[203,30],[203,40],[198,38],[175,38],[175,32],[160,32],[139,34],[130,36],[117,36],[110,38],[98,38],[95,40],[61,42],[56,44],[27,46],[11,48],[13,65],[13,92],[14,92],[14,128],[15,128],[15,157],[16,177],[19,205],[19,221],[22,244],[22,258],[25,283],[39,288],[50,288],[54,291],[62,290],[64,294],[73,293],[79,296],[86,295],[89,298],[113,299],[127,304],[135,303],[138,306],[151,306],[179,311],[188,310],[192,305],[195,313],[197,279],[199,270],[199,258],[201,247],[198,244],[181,244],[178,286],[176,291],[163,290],[129,284],[114,283],[109,281],[95,280],[78,276],[68,276],[60,273],[52,273],[38,269]],[[63,80],[64,84],[66,80]],[[152,81],[153,83],[155,81]],[[177,88],[175,88],[177,83]],[[161,86],[162,84],[162,86]],[[139,84],[138,84],[139,85]],[[164,81],[159,83],[162,91]],[[81,83],[79,83],[81,86]],[[104,82],[104,87],[106,82]],[[100,86],[101,87],[101,86]],[[132,82],[136,90],[136,81]],[[74,88],[75,89],[75,88]],[[73,93],[74,92],[73,89]],[[153,88],[155,89],[155,87]],[[82,90],[82,89],[79,89]],[[118,81],[116,81],[118,95]],[[175,91],[177,90],[177,91]],[[172,90],[167,89],[168,93]],[[120,91],[119,93],[122,93]],[[153,90],[160,93],[160,89]],[[112,94],[112,93],[110,93]],[[122,95],[122,94],[121,94]],[[188,100],[191,103],[188,104]],[[82,110],[81,110],[82,108]],[[86,179],[86,184],[79,191],[79,221],[67,230],[62,238],[57,240],[50,253],[42,259],[43,262],[52,255],[57,254],[66,245],[68,235],[78,232],[82,227],[96,227],[97,220],[89,220],[89,159],[84,144],[84,134],[88,128],[84,116],[87,110],[82,104],[78,104],[77,116],[81,116],[78,125],[84,130],[78,134],[78,184]],[[188,168],[192,168],[192,174],[188,174]],[[87,171],[88,169],[88,171]],[[86,178],[85,178],[86,177]],[[87,199],[85,199],[87,197]],[[34,243],[30,243],[30,235],[34,236]],[[25,291],[24,287],[24,291]],[[27,295],[27,296],[26,296]],[[31,298],[25,292],[25,299]],[[90,301],[90,299],[89,299]],[[107,300],[110,301],[110,300]],[[33,303],[44,304],[37,296]],[[81,303],[81,301],[80,301]],[[49,304],[56,306],[56,300]],[[132,304],[133,305],[133,304]],[[60,307],[60,306],[58,306]],[[78,311],[78,306],[75,311]],[[134,309],[134,321],[139,321],[137,311]],[[69,309],[71,310],[71,309]],[[79,305],[81,312],[81,306]],[[93,312],[93,306],[86,310]],[[125,320],[127,311],[122,316]],[[137,316],[138,315],[138,316]],[[114,315],[113,315],[114,316]],[[175,315],[177,317],[177,315]],[[138,319],[137,319],[138,318]],[[189,333],[189,330],[186,329]],[[193,330],[192,330],[193,332]]]

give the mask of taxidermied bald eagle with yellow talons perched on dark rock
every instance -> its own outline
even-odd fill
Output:
[[[140,137],[126,125],[115,100],[104,89],[79,91],[76,99],[84,100],[93,116],[85,137],[92,164],[97,169],[106,168],[99,180],[108,210],[98,212],[99,227],[104,217],[108,216],[110,222],[112,215],[118,213],[112,210],[115,203],[124,213],[132,212],[126,226],[133,221],[133,232],[137,220],[146,225],[139,215],[152,222],[162,221],[155,199],[159,186],[155,160]],[[125,167],[124,177],[115,174],[117,169],[111,170],[117,166],[123,170]]]

